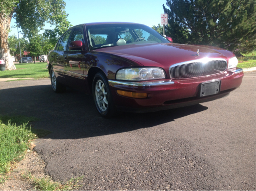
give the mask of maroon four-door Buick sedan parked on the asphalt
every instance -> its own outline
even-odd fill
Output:
[[[98,112],[152,112],[222,98],[242,83],[234,53],[172,43],[134,23],[74,26],[48,56],[56,93],[66,86],[92,94]]]

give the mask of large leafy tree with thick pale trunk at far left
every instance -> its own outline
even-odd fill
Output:
[[[67,16],[65,6],[64,0],[0,0],[0,59],[5,61],[6,69],[16,69],[8,47],[12,18],[16,19],[25,38],[33,38],[45,22],[58,25],[58,17]]]

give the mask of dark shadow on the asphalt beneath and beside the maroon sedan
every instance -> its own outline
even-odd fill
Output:
[[[34,116],[34,128],[50,130],[44,138],[77,139],[150,128],[208,109],[200,104],[151,113],[122,113],[102,118],[92,96],[73,89],[56,94],[51,85],[0,90],[0,114]],[[182,127],[181,127],[182,128]]]

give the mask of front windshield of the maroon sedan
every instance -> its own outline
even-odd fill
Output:
[[[86,26],[90,50],[144,43],[170,43],[152,28],[141,24],[99,24]]]

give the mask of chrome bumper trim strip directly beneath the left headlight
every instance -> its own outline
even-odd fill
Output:
[[[171,80],[155,81],[155,82],[124,82],[124,81],[108,80],[108,82],[120,84],[120,85],[128,85],[128,86],[162,86],[162,85],[174,84],[174,82]]]

